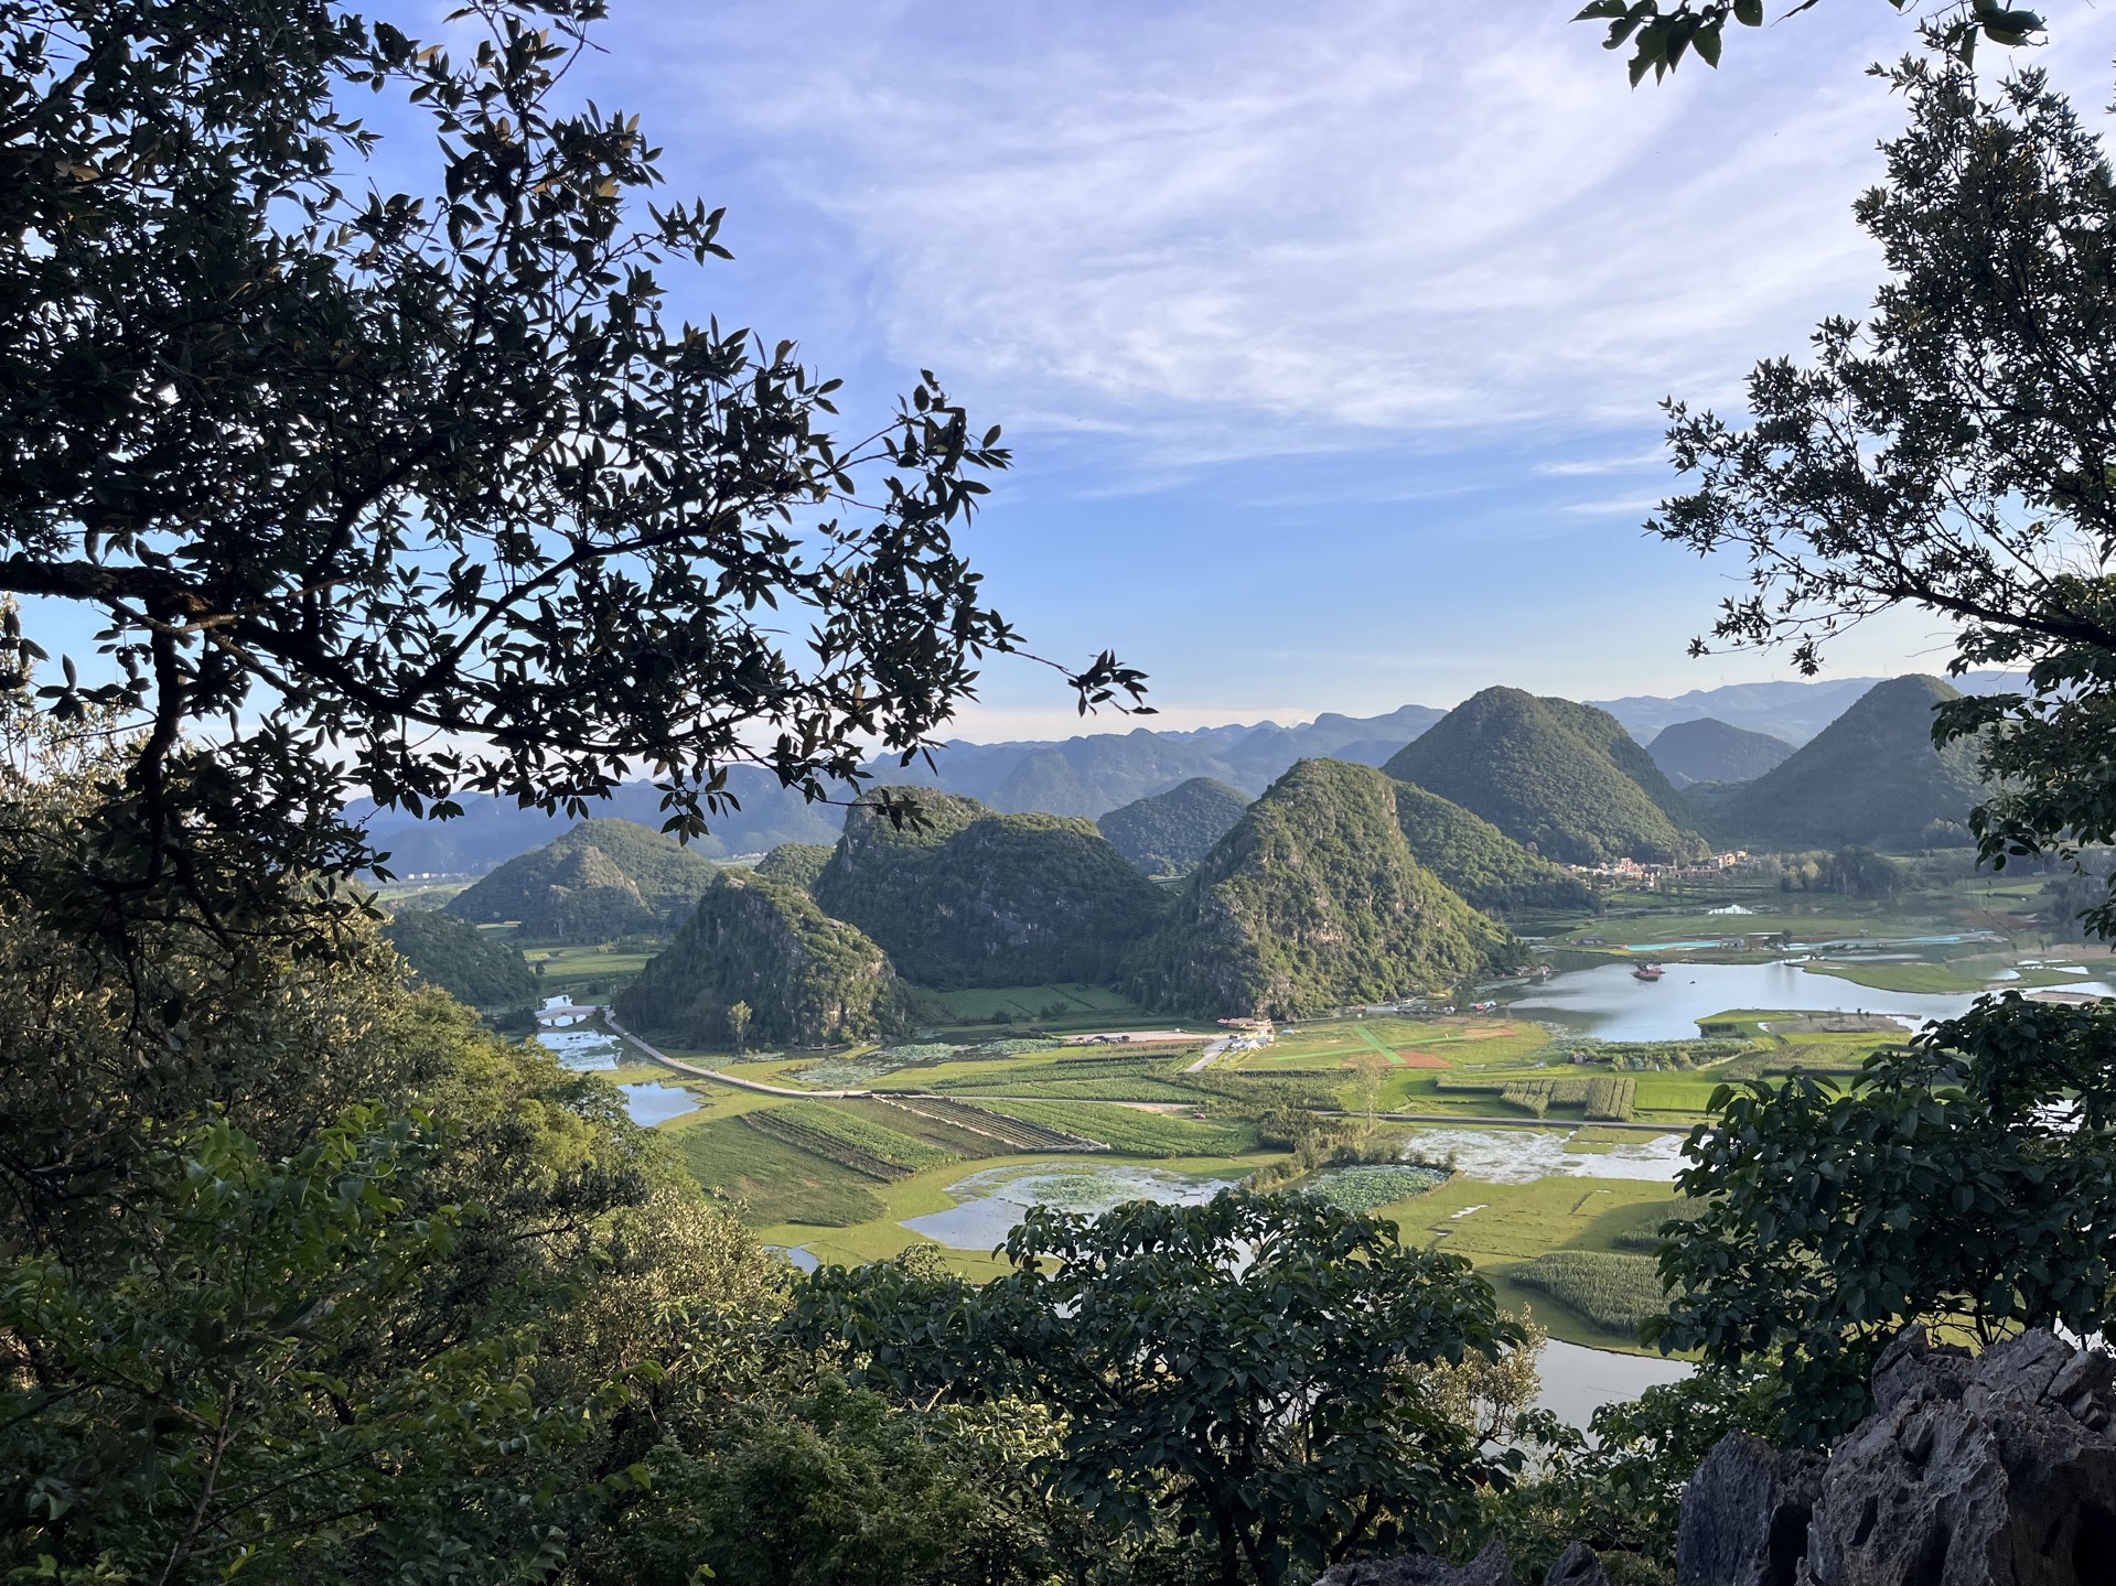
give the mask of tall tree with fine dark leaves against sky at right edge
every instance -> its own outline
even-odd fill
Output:
[[[1858,203],[1890,283],[1864,324],[1824,321],[1809,364],[1758,364],[1746,427],[1670,406],[1697,486],[1653,529],[1748,560],[1716,641],[1790,643],[1813,670],[1847,624],[1907,605],[1957,624],[1955,670],[2023,668],[2025,691],[1949,700],[1936,732],[1983,746],[1987,861],[2067,854],[2116,837],[2097,571],[2116,554],[2116,186],[2040,72],[1987,93],[1909,61],[1892,82],[1911,125]]]

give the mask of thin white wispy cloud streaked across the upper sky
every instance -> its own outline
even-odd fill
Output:
[[[1185,465],[1636,425],[1877,275],[1847,201],[1900,108],[1816,70],[1822,15],[1638,93],[1540,2],[804,17],[660,23],[715,63],[696,133],[751,140],[884,347],[1016,429]]]

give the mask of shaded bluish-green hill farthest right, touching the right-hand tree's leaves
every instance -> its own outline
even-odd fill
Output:
[[[1936,677],[1877,683],[1784,766],[1703,791],[1714,829],[1752,848],[1949,848],[1985,797],[1976,744],[1932,746],[1932,708],[1959,691]]]

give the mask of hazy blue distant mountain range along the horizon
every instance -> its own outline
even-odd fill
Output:
[[[1663,727],[1701,717],[1771,734],[1788,744],[1805,744],[1879,681],[1856,677],[1828,683],[1737,683],[1693,689],[1672,700],[1657,696],[1600,700],[1589,702],[1589,708],[1615,717],[1640,744],[1650,744]],[[1970,694],[1989,694],[2014,683],[2017,679],[2004,672],[1972,672],[1959,679]],[[1134,727],[1066,740],[997,744],[950,740],[933,751],[931,766],[925,761],[897,766],[893,759],[882,759],[870,770],[878,782],[973,797],[1003,814],[1098,818],[1196,778],[1210,778],[1257,797],[1299,759],[1386,766],[1445,715],[1426,704],[1405,704],[1378,717],[1331,711],[1291,727],[1259,721],[1189,732]],[[736,766],[728,787],[741,799],[741,810],[717,818],[713,833],[694,844],[707,859],[758,854],[781,844],[834,844],[844,825],[844,810],[836,804],[808,804],[753,766]],[[573,825],[567,816],[518,810],[499,799],[470,795],[461,804],[466,812],[455,820],[413,820],[400,812],[377,812],[364,801],[349,812],[368,820],[379,846],[391,852],[391,873],[400,878],[482,875],[516,854],[552,842]],[[658,827],[660,795],[647,782],[628,782],[605,799],[597,814]]]

